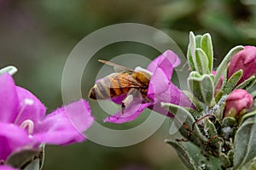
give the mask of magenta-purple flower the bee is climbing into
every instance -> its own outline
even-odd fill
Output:
[[[145,108],[172,117],[172,113],[161,107],[161,102],[193,107],[187,96],[171,82],[172,71],[174,67],[179,64],[180,59],[177,57],[177,54],[174,54],[171,50],[167,50],[164,54],[154,59],[148,65],[147,70],[145,70],[152,74],[147,94],[147,98],[150,101],[144,102],[142,98],[135,98],[125,107],[124,113],[119,111],[115,115],[107,117],[104,122],[130,122],[136,119]],[[137,69],[135,69],[135,71],[136,70]],[[122,99],[125,97],[126,96],[123,95],[112,100],[117,104],[121,104]]]

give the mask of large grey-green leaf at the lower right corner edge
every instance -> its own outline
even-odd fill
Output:
[[[253,115],[254,114],[254,115]],[[256,116],[255,111],[241,123],[236,131],[234,167],[240,168],[256,156]]]

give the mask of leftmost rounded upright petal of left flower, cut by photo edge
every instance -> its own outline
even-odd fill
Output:
[[[19,107],[13,78],[4,73],[0,77],[0,122],[14,122]]]

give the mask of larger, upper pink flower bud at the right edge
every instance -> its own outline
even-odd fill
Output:
[[[242,77],[237,84],[245,81],[247,78],[256,75],[256,47],[245,46],[243,50],[238,52],[230,61],[228,78],[236,71],[243,71]]]

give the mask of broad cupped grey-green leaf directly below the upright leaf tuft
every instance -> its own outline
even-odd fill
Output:
[[[196,99],[206,103],[208,106],[214,105],[214,87],[212,78],[209,75],[203,75],[201,78],[189,77],[189,89]]]

